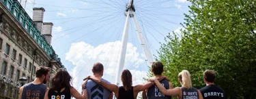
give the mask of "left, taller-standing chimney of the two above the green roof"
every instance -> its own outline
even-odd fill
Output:
[[[42,33],[42,25],[44,20],[45,9],[43,7],[33,8],[33,22],[35,22],[36,28]]]

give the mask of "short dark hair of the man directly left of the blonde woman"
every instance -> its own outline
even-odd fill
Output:
[[[162,72],[164,71],[164,65],[162,62],[153,62],[152,71],[154,75],[162,75]]]

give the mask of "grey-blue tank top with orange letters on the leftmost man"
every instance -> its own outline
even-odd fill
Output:
[[[44,94],[46,92],[46,85],[39,84],[34,85],[33,83],[27,83],[23,87],[23,93],[21,99],[44,99]]]

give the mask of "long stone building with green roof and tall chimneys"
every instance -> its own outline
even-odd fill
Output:
[[[51,46],[53,23],[43,21],[44,12],[33,8],[31,19],[17,0],[0,1],[0,98],[17,98],[18,79],[31,82],[40,66],[51,67],[51,77],[65,68]]]

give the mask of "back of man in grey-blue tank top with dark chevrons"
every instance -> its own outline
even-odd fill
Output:
[[[110,83],[105,79],[102,79],[102,81]],[[87,81],[86,87],[89,99],[108,99],[109,95],[111,94],[111,91],[107,90],[105,87],[102,87],[101,85],[98,85],[94,81],[91,81],[91,79]]]

